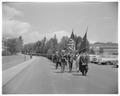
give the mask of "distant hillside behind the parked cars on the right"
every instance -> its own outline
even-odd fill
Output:
[[[96,54],[100,54],[100,48],[103,49],[103,54],[118,55],[118,43],[94,43],[90,46]]]

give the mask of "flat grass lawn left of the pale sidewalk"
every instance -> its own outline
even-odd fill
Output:
[[[30,57],[26,56],[26,60],[29,59]],[[22,62],[25,62],[24,55],[2,56],[2,70],[4,71]]]

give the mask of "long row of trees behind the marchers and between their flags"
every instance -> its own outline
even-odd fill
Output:
[[[58,42],[56,35],[53,38],[46,40],[43,38],[41,41],[35,43],[29,43],[24,45],[23,52],[26,53],[36,53],[36,54],[54,54],[56,51],[61,51],[62,49],[67,49],[69,37],[63,36],[61,41]],[[80,48],[82,38],[80,36],[74,37],[76,49]]]

